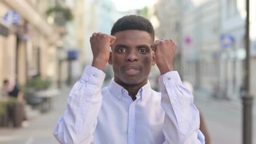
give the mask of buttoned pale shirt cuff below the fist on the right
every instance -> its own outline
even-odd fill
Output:
[[[173,87],[177,85],[182,85],[180,75],[177,71],[167,72],[158,78],[161,92],[166,90],[166,87]]]

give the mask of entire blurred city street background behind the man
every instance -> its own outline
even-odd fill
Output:
[[[173,68],[194,87],[210,144],[243,144],[249,121],[253,131],[244,135],[256,144],[255,5],[256,0],[0,0],[0,144],[58,143],[52,133],[69,90],[92,64],[90,37],[110,35],[126,15],[145,17],[155,40],[177,44]],[[112,65],[103,72],[107,86]],[[155,65],[149,75],[155,90],[159,76]],[[241,94],[254,96],[252,119],[248,107],[244,125]]]

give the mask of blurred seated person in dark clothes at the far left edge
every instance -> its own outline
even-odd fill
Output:
[[[9,96],[17,98],[18,101],[23,101],[23,92],[20,91],[17,85],[11,84],[8,79],[3,81],[3,85]]]

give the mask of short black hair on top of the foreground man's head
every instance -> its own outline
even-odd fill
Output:
[[[128,15],[118,19],[111,29],[111,35],[113,36],[115,33],[124,30],[146,31],[152,36],[154,41],[154,28],[151,22],[142,16]]]

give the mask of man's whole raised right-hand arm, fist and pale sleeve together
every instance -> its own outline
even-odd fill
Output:
[[[199,130],[199,111],[193,104],[193,95],[184,88],[179,74],[173,71],[176,43],[171,39],[160,39],[151,48],[161,73],[158,81],[162,94],[161,106],[165,111],[164,144],[204,144],[203,134]]]

